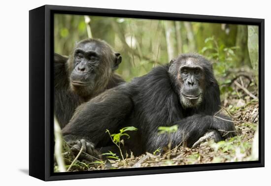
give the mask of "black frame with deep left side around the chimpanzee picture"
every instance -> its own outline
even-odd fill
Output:
[[[259,26],[259,160],[135,169],[53,172],[53,15],[229,23]],[[44,181],[264,167],[264,19],[44,5],[29,11],[29,175]]]

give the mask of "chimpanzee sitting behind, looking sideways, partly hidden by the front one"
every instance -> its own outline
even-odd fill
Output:
[[[98,39],[80,41],[69,58],[54,55],[54,110],[61,127],[68,124],[78,105],[124,83],[114,73],[120,62],[120,54]]]

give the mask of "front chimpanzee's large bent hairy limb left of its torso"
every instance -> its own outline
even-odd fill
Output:
[[[123,87],[125,84],[81,104],[62,130],[66,141],[85,139],[94,146],[107,145],[110,138],[106,129],[114,133],[133,109],[133,102]]]

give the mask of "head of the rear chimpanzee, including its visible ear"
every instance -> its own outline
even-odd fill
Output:
[[[78,43],[69,62],[71,89],[82,96],[99,91],[120,62],[120,54],[103,41],[89,39]]]

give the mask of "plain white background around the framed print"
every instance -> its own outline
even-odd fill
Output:
[[[271,9],[269,0],[1,0],[0,9],[0,185],[269,185]],[[29,10],[44,4],[160,11],[265,19],[266,167],[192,173],[42,182],[28,176]]]

